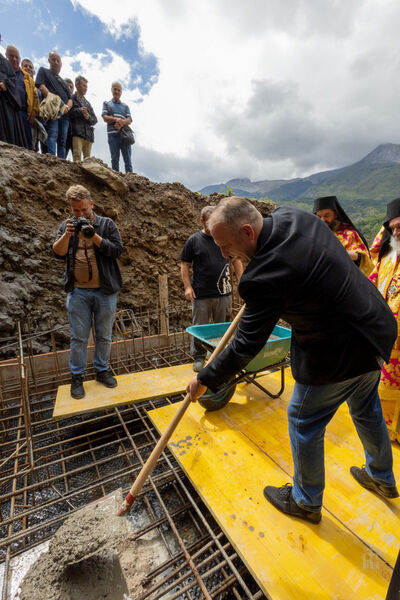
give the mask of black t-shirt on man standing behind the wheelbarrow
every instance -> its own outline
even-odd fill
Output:
[[[193,263],[192,287],[196,298],[217,298],[232,292],[228,259],[210,235],[197,231],[183,247],[179,260]]]

